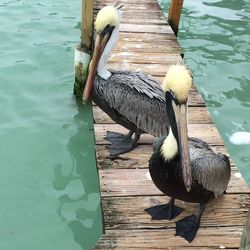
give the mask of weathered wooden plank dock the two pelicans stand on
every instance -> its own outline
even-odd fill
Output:
[[[95,10],[112,0],[95,1]],[[183,52],[156,0],[121,0],[123,17],[118,45],[112,53],[112,69],[144,71],[162,82],[170,65],[182,61]],[[189,136],[207,141],[216,152],[227,154],[201,95],[193,86],[189,95]],[[119,159],[107,158],[104,136],[108,130],[126,132],[94,106],[97,162],[105,234],[94,249],[238,249],[250,204],[235,164],[227,194],[207,206],[195,240],[189,244],[175,236],[175,221],[198,211],[197,204],[177,202],[185,211],[173,221],[153,221],[145,208],[166,202],[148,179],[153,137],[143,135],[140,145]]]

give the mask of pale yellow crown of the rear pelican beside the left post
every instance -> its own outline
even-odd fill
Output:
[[[120,23],[118,10],[114,6],[105,6],[102,8],[96,17],[95,29],[97,33],[101,33],[107,25],[116,27]]]

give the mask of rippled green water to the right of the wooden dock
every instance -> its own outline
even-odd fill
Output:
[[[169,1],[159,1],[168,10]],[[250,132],[250,1],[184,1],[178,39],[231,157],[250,187],[250,145],[229,141]]]

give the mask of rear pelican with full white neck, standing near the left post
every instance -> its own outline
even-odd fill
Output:
[[[151,76],[107,69],[108,56],[119,36],[120,15],[120,7],[116,6],[106,6],[97,14],[95,49],[83,93],[84,102],[91,95],[105,113],[129,130],[126,136],[108,132],[111,156],[135,148],[142,133],[166,135],[169,124],[164,92]]]

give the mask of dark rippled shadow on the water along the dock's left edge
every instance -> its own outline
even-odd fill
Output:
[[[54,168],[53,187],[64,191],[59,197],[58,215],[66,221],[82,249],[91,249],[102,234],[99,181],[95,167],[92,112],[77,101],[76,133],[67,143],[71,166]],[[65,173],[66,172],[66,173]]]

